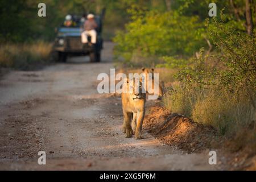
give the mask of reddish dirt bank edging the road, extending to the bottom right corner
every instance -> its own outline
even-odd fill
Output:
[[[244,140],[246,133],[235,139],[225,140],[210,126],[193,122],[183,115],[171,113],[162,106],[152,106],[146,115],[143,128],[163,143],[181,150],[199,152],[206,148],[218,148],[218,154],[225,156],[224,163],[229,170],[255,170],[255,147]]]

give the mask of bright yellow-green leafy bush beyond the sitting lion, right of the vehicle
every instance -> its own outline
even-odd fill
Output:
[[[133,21],[114,38],[115,55],[125,63],[133,65],[131,59],[138,52],[143,57],[191,56],[205,44],[204,28],[197,16],[187,17],[176,11],[130,12]]]

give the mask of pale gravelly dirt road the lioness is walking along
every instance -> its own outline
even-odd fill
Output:
[[[186,154],[144,130],[144,139],[124,137],[121,98],[97,92],[97,75],[113,68],[113,44],[104,47],[102,63],[73,57],[2,78],[0,169],[217,169],[207,151]]]

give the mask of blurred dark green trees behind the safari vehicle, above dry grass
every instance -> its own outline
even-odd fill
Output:
[[[63,23],[65,15],[84,13],[100,13],[106,7],[104,21],[107,33],[114,34],[118,28],[123,28],[129,16],[126,6],[131,1],[121,0],[44,0],[46,17],[38,16],[39,0],[1,0],[0,1],[0,43],[33,42],[34,40],[53,40],[55,27]]]

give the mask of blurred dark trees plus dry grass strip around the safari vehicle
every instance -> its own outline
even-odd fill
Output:
[[[51,44],[55,28],[67,14],[101,13],[106,9],[104,40],[113,38],[129,19],[125,9],[130,1],[53,1],[46,0],[46,17],[38,16],[40,1],[0,1],[0,72],[1,68],[35,69],[52,61]],[[1,74],[1,73],[0,73]]]

